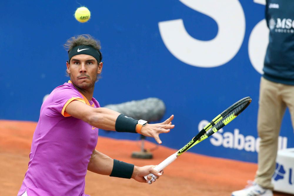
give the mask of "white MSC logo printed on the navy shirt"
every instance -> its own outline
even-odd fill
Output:
[[[293,19],[274,19],[269,20],[268,26],[270,30],[277,33],[294,33],[294,20]]]

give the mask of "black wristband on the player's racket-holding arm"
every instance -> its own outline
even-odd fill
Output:
[[[113,168],[109,176],[130,179],[133,175],[134,165],[113,159]]]

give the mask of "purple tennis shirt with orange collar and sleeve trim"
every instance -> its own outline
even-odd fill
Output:
[[[41,106],[34,132],[29,168],[18,195],[85,195],[88,163],[98,140],[98,128],[65,112],[79,100],[100,107],[95,98],[88,101],[69,81],[56,87]]]

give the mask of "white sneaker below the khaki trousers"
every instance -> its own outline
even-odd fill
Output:
[[[232,196],[273,196],[272,190],[264,189],[251,180],[248,180],[247,183],[245,189],[232,192]]]

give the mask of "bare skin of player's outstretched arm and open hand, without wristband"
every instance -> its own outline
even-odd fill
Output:
[[[65,108],[65,112],[69,115],[81,119],[90,125],[104,130],[116,130],[116,120],[120,113],[108,108],[93,108],[85,103],[73,100]],[[174,128],[171,124],[173,115],[162,123],[147,124],[142,127],[141,134],[153,137],[158,143],[161,143],[159,138],[160,133],[168,133]]]

